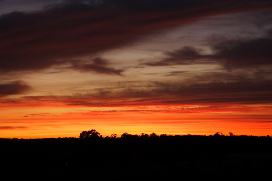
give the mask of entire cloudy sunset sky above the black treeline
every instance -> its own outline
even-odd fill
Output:
[[[0,138],[272,135],[272,1],[0,0]]]

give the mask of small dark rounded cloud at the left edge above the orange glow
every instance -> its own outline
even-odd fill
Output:
[[[0,84],[0,97],[5,97],[13,94],[21,94],[31,87],[23,81],[13,81],[5,84]]]

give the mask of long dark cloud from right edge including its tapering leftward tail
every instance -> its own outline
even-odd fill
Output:
[[[272,65],[272,35],[255,39],[236,39],[214,37],[209,40],[213,54],[204,55],[201,49],[184,46],[181,49],[165,52],[166,58],[157,62],[142,63],[147,66],[194,65],[220,63],[228,70],[238,68],[257,68]]]

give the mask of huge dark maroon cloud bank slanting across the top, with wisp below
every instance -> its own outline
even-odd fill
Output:
[[[245,5],[245,2],[247,5]],[[130,45],[143,36],[208,16],[270,7],[270,1],[65,1],[0,17],[0,70],[40,70]],[[112,72],[104,65],[79,70]]]

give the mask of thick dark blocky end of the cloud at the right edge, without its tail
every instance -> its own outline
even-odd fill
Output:
[[[272,36],[252,40],[225,40],[212,45],[214,59],[227,69],[272,65]]]

